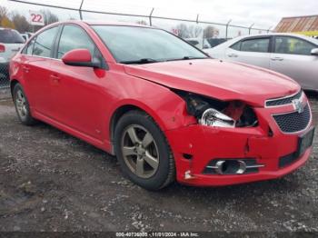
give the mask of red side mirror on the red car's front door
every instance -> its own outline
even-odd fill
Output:
[[[64,64],[72,66],[83,66],[100,68],[101,62],[98,60],[92,61],[92,55],[87,49],[75,49],[67,52],[62,57]]]

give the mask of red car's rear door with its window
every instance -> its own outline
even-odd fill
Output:
[[[46,29],[26,45],[22,63],[25,91],[36,113],[52,117],[52,82],[50,66],[59,26]]]

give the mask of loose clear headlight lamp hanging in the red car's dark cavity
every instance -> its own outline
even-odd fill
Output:
[[[207,126],[235,127],[235,121],[233,118],[220,113],[214,108],[209,108],[204,111],[201,119],[199,119],[199,124]]]

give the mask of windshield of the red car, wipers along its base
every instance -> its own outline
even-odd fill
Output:
[[[194,46],[164,30],[122,25],[93,25],[117,62],[146,64],[207,58]]]

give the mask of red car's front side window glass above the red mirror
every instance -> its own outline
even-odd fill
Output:
[[[94,55],[94,43],[91,38],[78,26],[65,25],[58,45],[57,58],[62,58],[70,50],[84,48]]]

